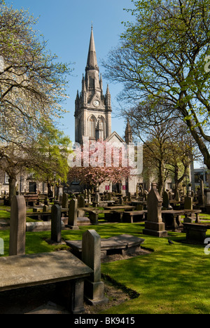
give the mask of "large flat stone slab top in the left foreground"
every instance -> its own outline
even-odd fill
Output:
[[[0,292],[83,278],[92,270],[70,252],[0,258]]]

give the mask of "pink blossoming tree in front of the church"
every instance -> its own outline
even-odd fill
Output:
[[[86,141],[83,146],[78,145],[69,165],[69,182],[78,179],[97,190],[106,181],[117,184],[128,179],[131,170],[127,146],[105,141]]]

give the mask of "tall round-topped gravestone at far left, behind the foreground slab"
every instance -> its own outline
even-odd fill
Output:
[[[9,256],[25,255],[26,203],[24,196],[13,196],[10,211]]]

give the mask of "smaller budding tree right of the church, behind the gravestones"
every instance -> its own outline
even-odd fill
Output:
[[[144,144],[144,177],[157,178],[162,195],[170,173],[177,190],[196,158],[195,141],[179,113],[170,103],[156,104],[148,98],[139,106],[124,110],[123,115],[129,119],[134,136]]]

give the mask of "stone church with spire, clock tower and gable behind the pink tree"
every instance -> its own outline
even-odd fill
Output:
[[[85,76],[82,78],[82,90],[77,92],[75,101],[75,142],[82,144],[83,137],[89,137],[90,140],[98,139],[106,142],[127,143],[132,142],[132,132],[130,124],[127,123],[125,130],[125,140],[118,135],[116,131],[111,129],[111,93],[109,86],[106,87],[104,95],[102,74],[99,73],[97,63],[97,54],[94,43],[93,29],[91,28],[90,47],[87,55],[87,66],[85,68]],[[136,186],[142,182],[138,176],[130,178],[130,181],[122,182],[120,191],[126,193],[136,192]],[[73,187],[73,186],[72,186]],[[76,190],[76,182],[74,183]],[[100,192],[104,190],[113,191],[116,186],[112,186],[111,182],[106,182],[100,186]]]

